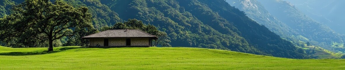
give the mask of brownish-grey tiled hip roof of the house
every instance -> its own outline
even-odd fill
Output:
[[[99,33],[91,34],[82,38],[131,38],[131,37],[152,37],[157,38],[154,35],[141,31],[139,29],[115,29],[107,30]]]

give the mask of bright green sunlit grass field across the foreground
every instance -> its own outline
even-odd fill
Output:
[[[202,48],[0,47],[0,70],[342,70],[343,59],[287,59]]]

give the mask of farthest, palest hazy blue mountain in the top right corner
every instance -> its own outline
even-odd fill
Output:
[[[345,34],[344,0],[286,0],[307,16]]]

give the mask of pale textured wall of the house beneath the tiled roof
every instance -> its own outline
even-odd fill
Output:
[[[109,46],[126,46],[126,39],[128,38],[91,38],[90,46],[96,45],[104,46],[104,39],[109,39]],[[149,38],[130,38],[131,46],[149,46]]]

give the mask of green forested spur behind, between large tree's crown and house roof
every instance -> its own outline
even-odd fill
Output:
[[[97,29],[122,22],[118,14],[100,3],[100,0],[66,0],[66,2],[73,7],[88,7],[88,12],[92,15],[93,26]]]

